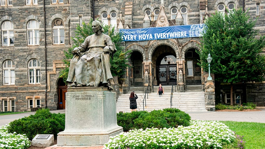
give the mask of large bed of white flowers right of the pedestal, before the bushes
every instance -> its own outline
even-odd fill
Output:
[[[105,149],[221,149],[236,139],[234,132],[218,121],[192,121],[178,128],[134,129],[110,137]]]

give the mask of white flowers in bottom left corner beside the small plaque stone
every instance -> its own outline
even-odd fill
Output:
[[[0,148],[1,149],[24,149],[31,144],[25,134],[8,133],[8,125],[0,126]]]

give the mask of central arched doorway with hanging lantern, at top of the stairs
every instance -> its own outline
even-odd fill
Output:
[[[172,85],[177,82],[176,53],[166,45],[156,48],[153,59],[156,59],[157,85]]]

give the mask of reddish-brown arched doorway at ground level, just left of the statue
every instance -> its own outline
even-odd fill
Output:
[[[67,86],[63,82],[63,78],[58,80],[58,109],[65,109],[65,93],[67,92]]]

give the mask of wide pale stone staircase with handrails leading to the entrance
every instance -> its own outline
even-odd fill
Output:
[[[116,102],[117,112],[130,112],[129,96],[134,91],[137,96],[138,111],[153,111],[164,108],[170,108],[171,86],[163,86],[164,94],[158,97],[158,86],[154,86],[154,92],[148,93],[148,98],[143,103],[144,91],[143,87],[130,87],[128,94],[120,94]],[[185,92],[178,92],[173,89],[172,108],[178,108],[184,112],[203,112],[205,108],[205,95],[201,89],[201,85],[187,86]]]

